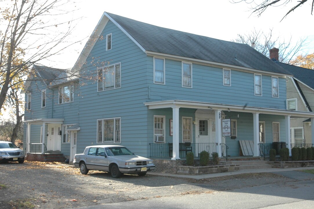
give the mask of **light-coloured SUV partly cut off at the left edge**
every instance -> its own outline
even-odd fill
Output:
[[[0,141],[0,162],[18,161],[24,162],[24,151],[9,141]]]

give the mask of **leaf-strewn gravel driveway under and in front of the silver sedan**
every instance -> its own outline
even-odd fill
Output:
[[[283,180],[284,179],[284,180]],[[74,208],[104,203],[187,194],[214,194],[221,190],[264,184],[285,184],[273,173],[250,173],[210,179],[79,173],[78,168],[40,162],[0,164],[0,208]]]

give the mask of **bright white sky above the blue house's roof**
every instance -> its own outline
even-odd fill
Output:
[[[297,8],[280,20],[296,1],[286,7],[268,8],[261,17],[252,14],[250,5],[231,3],[229,0],[78,0],[71,4],[76,9],[73,17],[83,17],[76,26],[73,40],[88,37],[97,25],[103,12],[118,14],[127,18],[158,25],[174,30],[181,30],[198,35],[230,41],[237,34],[249,33],[254,28],[268,32],[273,29],[281,39],[299,40],[308,37],[307,51],[314,52],[314,16],[311,15],[310,5],[307,3]],[[79,53],[85,45],[76,45],[63,52],[62,56],[54,58],[54,63],[43,63],[59,68],[72,67]]]

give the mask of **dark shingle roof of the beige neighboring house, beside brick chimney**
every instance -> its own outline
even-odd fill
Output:
[[[285,70],[289,71],[290,74],[293,74],[296,79],[314,89],[314,70],[280,62],[278,62],[278,64]]]

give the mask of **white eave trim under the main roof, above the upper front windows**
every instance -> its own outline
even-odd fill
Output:
[[[252,69],[252,68],[245,68],[245,67],[239,67],[236,65],[230,65],[230,64],[225,64],[225,63],[216,63],[216,62],[211,62],[211,61],[206,61],[206,60],[201,60],[201,59],[195,59],[195,58],[187,58],[187,57],[182,57],[182,56],[177,56],[177,55],[171,55],[171,54],[165,54],[165,53],[160,53],[160,52],[152,52],[152,51],[145,51],[145,53],[148,56],[160,56],[164,58],[170,58],[173,60],[178,60],[182,61],[185,60],[186,62],[193,62],[195,64],[201,64],[204,65],[204,63],[209,64],[209,66],[212,67],[218,67],[218,68],[230,68],[231,70],[238,70],[238,71],[243,71],[243,72],[249,72],[249,73],[262,73],[263,75],[276,75],[280,78],[286,78],[286,77],[291,77],[292,75],[290,74],[280,74],[280,73],[273,73],[269,71],[263,71],[263,70],[257,70],[257,69]]]

